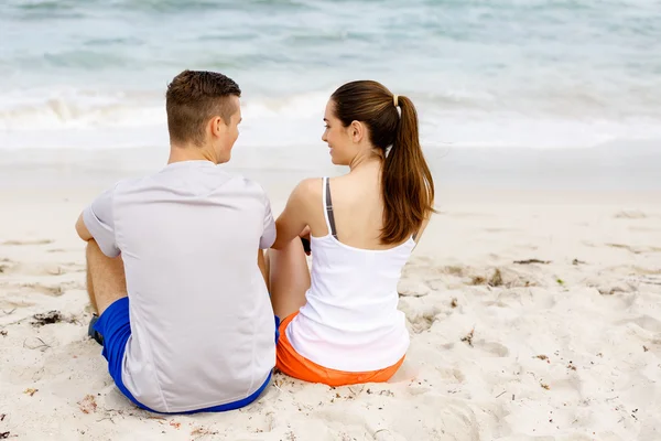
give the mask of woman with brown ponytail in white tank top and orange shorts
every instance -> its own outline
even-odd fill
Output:
[[[386,381],[409,347],[397,284],[433,213],[432,174],[413,103],[377,82],[338,88],[324,121],[333,163],[350,171],[301,182],[275,223],[277,366],[330,386]],[[312,276],[300,239],[307,234]]]

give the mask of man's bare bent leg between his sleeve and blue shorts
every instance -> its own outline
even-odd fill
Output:
[[[106,256],[96,240],[87,243],[87,292],[99,315],[112,302],[128,295],[123,260]]]

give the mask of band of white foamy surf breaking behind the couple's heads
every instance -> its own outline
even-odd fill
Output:
[[[240,143],[321,144],[324,108],[332,92],[245,97]],[[573,148],[618,139],[661,139],[661,118],[654,115],[579,114],[576,105],[563,115],[546,111],[543,103],[539,109],[511,111],[499,108],[494,96],[466,90],[412,98],[426,148]],[[164,108],[162,93],[143,90],[63,88],[6,93],[0,96],[0,148],[164,144]]]

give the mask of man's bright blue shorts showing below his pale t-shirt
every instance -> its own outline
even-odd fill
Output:
[[[280,325],[280,319],[275,315],[275,343],[278,343],[278,337],[280,333],[278,327]],[[115,380],[117,388],[127,396],[136,406],[141,409],[149,410],[151,412],[158,412],[156,410],[152,410],[149,407],[140,404],[127,389],[121,380],[121,365],[123,363],[124,352],[127,349],[127,342],[129,341],[129,336],[131,336],[131,321],[129,316],[129,298],[124,297],[119,300],[116,300],[104,311],[99,320],[94,325],[95,331],[104,336],[104,352],[102,355],[108,361],[108,372],[110,376]],[[251,396],[243,398],[238,401],[227,402],[220,406],[214,406],[206,409],[198,410],[189,410],[186,412],[177,412],[177,413],[196,413],[196,412],[223,412],[226,410],[234,410],[241,408],[243,406],[248,406],[252,401],[254,401],[261,392],[267,388],[269,381],[271,380],[271,374],[264,381],[263,385],[260,386],[254,394]]]

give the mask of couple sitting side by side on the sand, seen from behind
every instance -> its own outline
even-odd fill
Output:
[[[274,366],[332,386],[386,381],[409,346],[397,284],[434,198],[411,100],[376,82],[338,88],[322,139],[349,173],[301,182],[273,220],[264,191],[219,166],[240,94],[218,73],[176,76],[167,165],[118,183],[76,224],[90,335],[143,409],[236,409]]]

